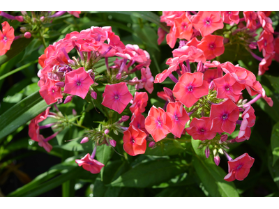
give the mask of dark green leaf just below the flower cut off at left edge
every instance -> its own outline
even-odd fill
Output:
[[[20,54],[20,52],[22,52],[29,45],[31,40],[33,40],[33,38],[19,38],[14,40],[10,50],[8,50],[6,54],[0,56],[0,65],[6,63],[17,54]]]

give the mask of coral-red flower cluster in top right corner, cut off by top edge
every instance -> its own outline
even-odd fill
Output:
[[[173,51],[174,58],[183,53],[189,59],[195,61],[200,60],[203,63],[206,60],[214,59],[224,53],[225,45],[239,44],[246,47],[252,56],[259,60],[258,75],[263,75],[269,70],[271,61],[278,59],[278,38],[273,38],[274,33],[271,18],[271,12],[253,12],[244,11],[243,17],[240,18],[238,11],[234,12],[163,12],[160,17],[161,22],[166,22],[170,26],[167,33],[167,44],[174,48],[176,40],[179,38],[179,49]],[[246,22],[243,24],[243,22]],[[230,29],[224,27],[225,24],[230,25]],[[218,35],[214,35],[217,31]],[[258,40],[255,36],[259,34]],[[163,29],[158,30],[158,44],[165,37]],[[264,58],[257,56],[252,49],[259,49]],[[179,63],[181,63],[179,58]],[[176,60],[168,60],[167,65],[172,61],[173,65]],[[171,67],[171,66],[170,66]]]

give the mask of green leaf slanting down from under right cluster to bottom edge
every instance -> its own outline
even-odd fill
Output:
[[[199,140],[192,139],[192,146],[197,154],[193,156],[193,165],[206,191],[211,196],[239,196],[234,183],[224,180],[227,173],[216,166],[212,157],[206,159],[204,156],[204,148],[197,149]]]

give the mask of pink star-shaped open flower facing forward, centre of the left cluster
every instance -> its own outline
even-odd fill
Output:
[[[90,75],[85,72],[84,67],[78,68],[66,73],[63,93],[77,95],[84,99],[93,83]]]

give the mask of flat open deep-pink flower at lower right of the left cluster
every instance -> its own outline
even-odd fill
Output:
[[[117,111],[119,114],[126,108],[130,100],[133,100],[133,95],[128,90],[126,83],[111,84],[105,86],[105,92],[103,93],[102,104],[105,107]]]

